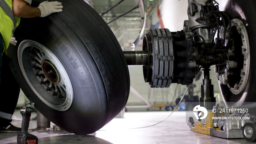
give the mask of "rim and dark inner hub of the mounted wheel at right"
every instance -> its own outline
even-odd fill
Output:
[[[233,46],[227,53],[228,60],[226,65],[215,66],[215,70],[218,71],[217,79],[220,84],[227,85],[233,94],[240,94],[244,91],[249,76],[249,38],[246,27],[241,20],[231,20],[231,26]]]

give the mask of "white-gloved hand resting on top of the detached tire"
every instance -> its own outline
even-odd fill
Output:
[[[62,12],[61,8],[63,8],[63,6],[61,5],[61,2],[58,1],[44,1],[40,3],[37,8],[41,11],[40,17],[45,17],[53,12]]]

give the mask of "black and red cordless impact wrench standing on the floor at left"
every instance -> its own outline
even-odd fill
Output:
[[[29,129],[31,112],[35,110],[35,107],[35,103],[30,102],[20,109],[20,114],[22,115],[22,126],[21,132],[18,133],[17,136],[18,144],[38,144],[38,138],[27,132]]]

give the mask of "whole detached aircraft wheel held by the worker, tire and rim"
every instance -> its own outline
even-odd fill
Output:
[[[113,32],[90,5],[59,1],[63,12],[21,19],[17,46],[6,53],[21,89],[46,118],[68,132],[90,134],[124,109],[128,66]]]

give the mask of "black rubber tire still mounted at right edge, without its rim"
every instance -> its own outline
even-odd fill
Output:
[[[234,18],[242,20],[246,26],[250,46],[250,66],[249,77],[246,88],[240,94],[233,94],[226,85],[219,85],[222,98],[227,107],[232,105],[243,105],[244,102],[256,102],[256,1],[254,0],[229,0],[227,1],[225,11]]]

